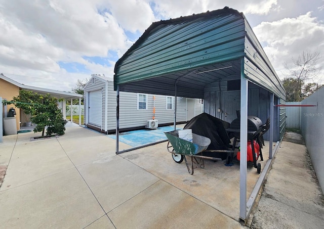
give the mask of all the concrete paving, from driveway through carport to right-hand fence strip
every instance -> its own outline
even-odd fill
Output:
[[[190,175],[184,162],[172,160],[167,143],[115,155],[113,138],[79,126],[67,127],[59,138],[30,141],[34,136],[39,133],[5,136],[0,144],[0,165],[8,166],[0,188],[0,227],[245,228],[238,222],[238,163],[205,160],[205,169]],[[120,150],[129,148],[119,143]],[[281,144],[276,157],[286,159],[273,162],[251,217],[253,228],[323,228],[322,195],[308,167],[298,167],[302,176],[280,173],[296,171],[287,161],[304,154],[305,147]],[[258,177],[249,166],[248,196]],[[291,204],[288,190],[301,179],[308,191],[298,192]]]

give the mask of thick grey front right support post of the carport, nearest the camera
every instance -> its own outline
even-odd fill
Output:
[[[248,80],[244,78],[244,59],[241,60],[239,218],[247,220],[247,147],[248,147]]]

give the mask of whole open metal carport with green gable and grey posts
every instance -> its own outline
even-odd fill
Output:
[[[240,80],[240,215],[246,221],[262,185],[273,152],[247,201],[247,116],[249,82],[269,92],[270,143],[274,107],[285,103],[285,90],[245,16],[225,7],[212,12],[154,22],[115,65],[117,90],[116,153],[119,91],[205,99],[205,88],[227,78]],[[283,134],[285,110],[276,111]],[[175,118],[176,122],[176,118]],[[276,144],[276,147],[278,143]]]

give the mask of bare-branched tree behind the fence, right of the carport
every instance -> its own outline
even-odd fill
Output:
[[[285,63],[285,68],[289,72],[289,76],[282,82],[287,92],[287,102],[299,102],[305,98],[304,86],[308,80],[313,80],[321,68],[317,65],[319,60],[319,52],[303,51],[297,59],[293,60],[293,65]],[[306,90],[309,90],[312,84],[309,84]]]

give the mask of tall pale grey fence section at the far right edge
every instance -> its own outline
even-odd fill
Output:
[[[301,131],[319,185],[324,193],[324,87],[301,102]]]

